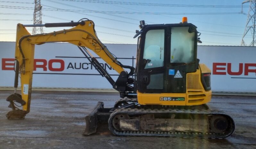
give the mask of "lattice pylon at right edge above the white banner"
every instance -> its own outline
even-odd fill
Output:
[[[256,46],[256,0],[245,0],[244,3],[250,2],[249,11],[247,14],[247,22],[243,33],[243,38],[241,42],[241,46]],[[246,39],[246,42],[249,43],[248,45],[245,43],[245,36],[249,37],[252,34],[252,38]]]

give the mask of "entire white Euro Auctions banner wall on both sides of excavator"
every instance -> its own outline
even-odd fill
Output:
[[[106,44],[124,65],[135,67],[134,44]],[[15,42],[0,42],[0,87],[14,83]],[[93,52],[91,52],[94,54]],[[256,92],[256,47],[198,46],[198,59],[212,71],[211,87],[220,92]],[[117,79],[118,74],[103,60],[98,61]],[[84,57],[77,46],[69,43],[46,43],[35,47],[33,87],[107,88],[112,86]],[[129,70],[127,70],[129,71]]]

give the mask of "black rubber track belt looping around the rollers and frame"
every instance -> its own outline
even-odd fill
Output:
[[[170,131],[118,131],[113,127],[113,118],[117,114],[143,115],[143,114],[203,114],[203,115],[223,115],[229,121],[229,132],[223,133],[202,133],[202,132],[170,132]],[[116,109],[108,119],[109,130],[116,136],[144,136],[144,137],[183,137],[183,138],[225,138],[234,133],[235,122],[227,114],[217,110],[184,110],[184,109]]]

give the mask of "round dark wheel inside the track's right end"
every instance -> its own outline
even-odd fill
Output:
[[[228,128],[228,120],[222,115],[213,115],[210,119],[210,129],[215,133],[223,133]]]

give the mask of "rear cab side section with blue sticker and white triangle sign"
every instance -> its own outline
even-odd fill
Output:
[[[186,93],[187,73],[197,69],[197,32],[190,24],[173,25],[167,50],[167,93]]]

